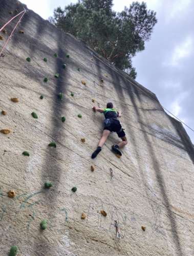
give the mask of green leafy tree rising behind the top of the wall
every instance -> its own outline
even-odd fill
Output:
[[[116,67],[135,78],[132,58],[144,50],[157,23],[156,12],[147,10],[144,2],[133,2],[116,13],[113,0],[79,0],[62,10],[54,10],[50,22],[64,32],[86,42]]]

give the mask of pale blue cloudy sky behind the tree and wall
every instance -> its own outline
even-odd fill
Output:
[[[77,0],[20,0],[43,18]],[[130,6],[133,0],[114,0],[115,11]],[[141,1],[139,1],[141,2]],[[144,0],[157,12],[158,23],[145,50],[133,59],[136,80],[156,93],[161,104],[194,130],[192,97],[194,95],[194,1]],[[192,142],[194,132],[185,127]]]

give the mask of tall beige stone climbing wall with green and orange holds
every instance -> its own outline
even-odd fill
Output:
[[[1,0],[0,27],[23,7]],[[4,55],[0,255],[194,255],[193,146],[155,94],[30,10]],[[92,160],[109,101],[128,144]]]

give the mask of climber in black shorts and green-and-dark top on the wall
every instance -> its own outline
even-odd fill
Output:
[[[98,147],[92,154],[92,158],[95,158],[100,153],[100,151],[102,150],[103,144],[106,142],[111,132],[116,132],[119,138],[121,138],[122,140],[120,143],[116,145],[112,145],[113,152],[115,152],[119,156],[122,156],[119,148],[125,146],[127,144],[127,140],[126,140],[125,132],[123,131],[122,126],[119,120],[117,119],[117,117],[121,117],[121,113],[116,111],[113,108],[112,102],[109,102],[106,104],[106,109],[101,109],[101,108],[98,108],[97,106],[93,106],[93,110],[95,112],[97,111],[97,112],[103,113],[105,120],[103,122],[104,130],[102,133],[102,137],[99,140]]]

